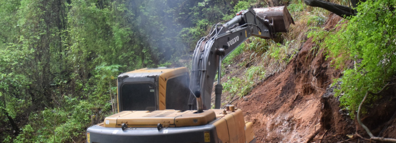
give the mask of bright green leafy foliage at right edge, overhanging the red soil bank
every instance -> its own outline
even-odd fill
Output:
[[[367,91],[379,91],[396,73],[395,39],[396,10],[394,0],[367,1],[356,9],[356,16],[349,17],[341,30],[325,39],[329,56],[338,68],[344,68],[344,76],[337,79],[335,90],[343,107],[353,117]],[[352,68],[348,61],[356,64]],[[335,82],[336,83],[336,82]],[[369,97],[373,101],[379,96]]]

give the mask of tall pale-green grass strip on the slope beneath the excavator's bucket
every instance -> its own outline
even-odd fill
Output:
[[[345,5],[347,1],[333,0],[333,2]],[[243,66],[240,66],[246,68],[245,76],[232,77],[224,83],[225,89],[228,89],[232,96],[242,97],[268,75],[284,71],[290,60],[298,53],[298,49],[307,40],[307,33],[316,28],[322,28],[329,15],[328,11],[307,6],[302,0],[291,0],[287,9],[295,22],[290,26],[288,33],[279,34],[279,38],[275,40],[249,38],[246,44],[240,46],[241,49],[236,50],[236,54],[233,52],[230,55],[231,57],[241,53],[249,55],[242,62]],[[227,63],[231,64],[229,61]]]

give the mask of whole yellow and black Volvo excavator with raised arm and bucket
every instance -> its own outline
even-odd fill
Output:
[[[255,143],[242,110],[234,105],[221,109],[221,61],[250,36],[275,38],[291,23],[284,6],[242,10],[198,41],[191,74],[185,67],[120,74],[119,113],[89,127],[87,143]],[[210,109],[216,73],[215,107]]]

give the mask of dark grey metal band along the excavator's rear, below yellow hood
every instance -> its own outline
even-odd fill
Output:
[[[218,143],[216,127],[212,124],[179,128],[88,128],[91,143]],[[209,132],[210,142],[205,142]]]

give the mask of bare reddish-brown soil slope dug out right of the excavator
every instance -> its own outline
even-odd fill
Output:
[[[334,30],[341,20],[341,17],[330,14],[323,28]],[[334,97],[334,87],[330,85],[333,79],[343,75],[342,70],[331,66],[332,58],[326,59],[324,49],[317,49],[318,45],[308,38],[284,71],[263,79],[249,94],[232,102],[244,111],[245,120],[253,122],[258,142],[369,142],[355,134],[369,138],[357,121],[340,107],[339,98]],[[243,76],[240,72],[245,72],[244,69],[238,70],[239,66],[235,65],[229,66],[236,68],[228,69],[234,71],[231,75]],[[353,62],[346,64],[352,65]],[[228,76],[230,73],[224,75]],[[370,114],[362,118],[374,134],[395,138],[395,88],[389,88],[387,92],[387,96],[369,107]]]

